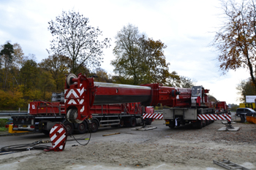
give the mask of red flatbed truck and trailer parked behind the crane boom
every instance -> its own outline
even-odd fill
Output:
[[[59,95],[59,94],[54,94]],[[52,98],[53,99],[53,98]],[[56,123],[64,123],[72,134],[84,134],[89,129],[96,132],[100,126],[134,127],[143,123],[143,112],[154,113],[152,107],[142,107],[140,103],[127,104],[101,104],[94,105],[89,110],[91,120],[83,120],[81,123],[70,123],[67,121],[67,112],[64,101],[32,101],[29,104],[29,115],[13,116],[14,131],[36,131],[48,134]],[[146,124],[151,124],[154,119],[146,119]]]

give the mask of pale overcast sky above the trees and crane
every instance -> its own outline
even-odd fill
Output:
[[[99,27],[103,37],[112,39],[112,46],[104,50],[101,67],[113,74],[114,37],[131,23],[149,38],[167,45],[170,72],[197,81],[219,101],[238,104],[236,86],[249,77],[249,72],[240,69],[222,75],[219,71],[218,53],[211,47],[214,31],[223,21],[218,7],[218,0],[0,0],[0,45],[17,42],[25,55],[36,55],[38,63],[48,57],[46,49],[53,39],[48,22],[62,10],[74,10],[89,18],[89,25]]]

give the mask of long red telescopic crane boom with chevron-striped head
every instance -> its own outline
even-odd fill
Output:
[[[93,78],[82,74],[78,77],[69,74],[65,85],[67,119],[73,123],[91,118],[90,108],[93,105],[141,102],[144,106],[189,107],[190,100],[191,89],[159,84],[139,86],[94,82]]]

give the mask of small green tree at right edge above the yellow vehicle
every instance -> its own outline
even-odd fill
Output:
[[[245,102],[246,96],[256,96],[255,86],[252,80],[242,80],[236,87],[240,95],[239,101]]]

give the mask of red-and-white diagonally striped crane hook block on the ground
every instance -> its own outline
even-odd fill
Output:
[[[62,123],[57,123],[53,125],[53,128],[50,129],[50,141],[53,144],[53,147],[50,147],[48,151],[62,151],[64,150],[65,144],[67,142],[67,128]]]

